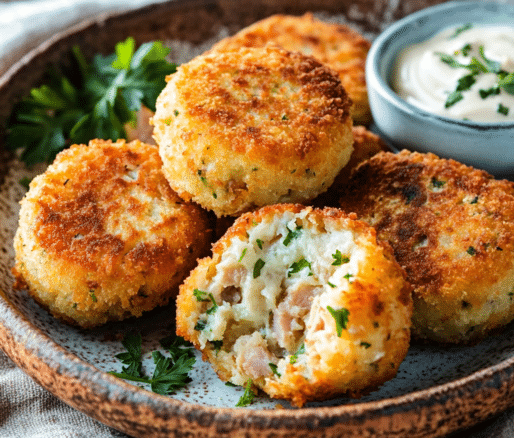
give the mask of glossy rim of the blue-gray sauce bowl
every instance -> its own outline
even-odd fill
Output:
[[[396,109],[401,111],[407,116],[412,118],[421,118],[424,122],[431,124],[445,124],[449,125],[456,130],[464,130],[475,133],[476,131],[509,131],[514,129],[514,122],[476,122],[470,120],[459,120],[450,117],[441,116],[438,114],[425,111],[406,100],[402,99],[392,89],[389,83],[380,74],[381,55],[386,51],[384,47],[389,44],[393,37],[402,34],[413,22],[421,21],[426,17],[433,14],[440,14],[452,11],[454,9],[472,10],[472,9],[486,9],[488,6],[494,5],[496,8],[508,11],[514,15],[514,4],[511,3],[497,3],[494,1],[449,1],[436,6],[431,6],[420,11],[409,14],[400,20],[388,26],[380,35],[373,41],[371,48],[368,52],[366,59],[366,83],[368,88],[371,88],[382,99],[393,105]],[[465,20],[462,20],[465,21]],[[443,30],[440,28],[439,30]],[[405,48],[402,46],[402,48]],[[399,49],[401,50],[401,49]]]

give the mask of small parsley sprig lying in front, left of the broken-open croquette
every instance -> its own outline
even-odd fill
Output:
[[[150,385],[153,392],[169,395],[190,382],[189,372],[196,361],[192,348],[183,338],[170,336],[161,341],[171,357],[166,357],[160,351],[153,351],[152,358],[155,369],[151,377],[144,374],[141,360],[141,334],[125,336],[122,345],[127,350],[115,357],[123,364],[121,373],[114,371],[109,374],[131,382],[140,382]]]

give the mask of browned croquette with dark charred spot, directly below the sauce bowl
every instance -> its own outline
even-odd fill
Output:
[[[362,163],[341,194],[405,268],[416,337],[466,343],[513,319],[514,183],[402,151]]]

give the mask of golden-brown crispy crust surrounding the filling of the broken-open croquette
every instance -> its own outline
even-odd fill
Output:
[[[407,353],[412,312],[411,288],[405,281],[403,270],[394,260],[389,245],[377,242],[374,229],[356,220],[355,215],[346,215],[338,209],[318,210],[281,204],[246,213],[213,246],[213,256],[200,260],[197,268],[181,285],[177,298],[177,334],[193,342],[202,351],[204,360],[211,362],[222,380],[241,384],[248,378],[248,375],[241,377],[238,374],[240,368],[245,366],[240,359],[235,362],[231,360],[224,345],[231,337],[231,330],[237,331],[237,336],[243,336],[246,332],[230,329],[237,324],[229,322],[221,350],[216,350],[211,342],[203,345],[197,323],[205,316],[205,309],[210,303],[199,302],[195,298],[195,291],[211,290],[209,288],[216,282],[216,278],[223,273],[222,266],[226,263],[224,255],[239,241],[251,244],[249,233],[252,233],[254,227],[261,223],[273,223],[281,215],[296,214],[296,217],[300,217],[298,215],[302,213],[307,213],[301,216],[304,230],[313,227],[321,233],[336,230],[351,232],[359,251],[362,251],[360,254],[365,254],[365,260],[360,263],[359,273],[346,289],[332,285],[326,293],[312,301],[303,340],[305,354],[298,355],[294,363],[290,360],[293,351],[286,353],[282,363],[280,354],[278,359],[270,356],[270,362],[274,361],[283,367],[280,368],[281,375],[269,371],[268,375],[253,379],[254,385],[271,397],[289,400],[296,406],[302,406],[310,400],[324,400],[343,394],[360,397],[394,377]],[[280,238],[268,237],[271,241]],[[266,245],[266,242],[262,245]],[[312,260],[312,263],[315,261]],[[244,295],[245,291],[241,293]],[[223,293],[221,296],[217,296],[216,292],[214,294],[215,300],[221,305]],[[287,298],[281,299],[282,303],[287,301]],[[335,333],[334,319],[328,313],[327,305],[349,310],[349,325],[340,337]],[[276,308],[278,306],[277,303]],[[270,313],[273,310],[270,309]],[[258,342],[271,345],[269,339],[262,341],[262,331],[256,333],[259,333]]]

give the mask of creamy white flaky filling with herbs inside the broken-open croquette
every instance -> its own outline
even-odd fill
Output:
[[[302,362],[298,351],[305,339],[319,338],[326,346],[335,336],[326,309],[340,302],[358,277],[366,252],[352,231],[332,229],[330,222],[314,224],[306,215],[286,212],[256,223],[247,240],[233,238],[201,291],[206,302],[212,294],[198,319],[201,347],[222,343],[219,359],[241,371],[234,383],[244,384],[248,375],[266,377],[270,363],[281,374],[291,356]],[[320,324],[320,319],[328,320]]]

